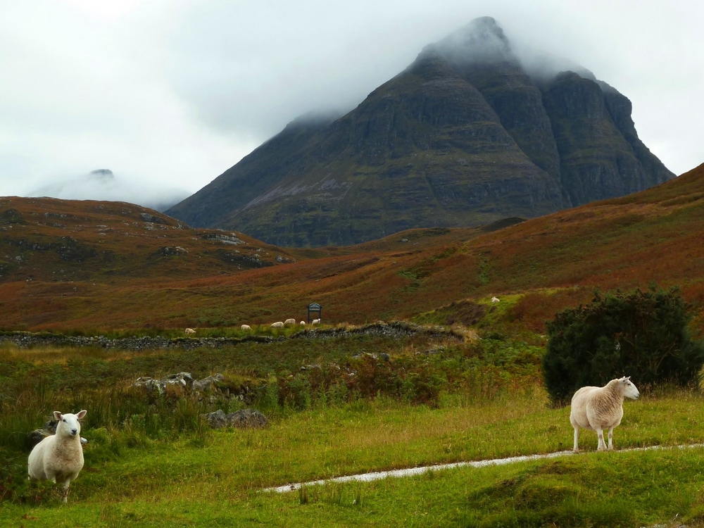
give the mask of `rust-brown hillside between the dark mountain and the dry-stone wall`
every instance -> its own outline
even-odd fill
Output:
[[[238,233],[247,241],[238,251],[262,249],[256,254],[271,263],[277,263],[276,256],[291,260],[241,270],[218,257],[220,248],[230,244],[208,239],[221,232],[183,225],[178,229],[175,220],[164,218],[172,225],[156,237],[137,220],[142,214],[137,206],[18,198],[1,203],[0,216],[6,222],[0,231],[1,256],[4,265],[19,266],[12,268],[11,276],[4,273],[0,282],[6,329],[268,323],[303,319],[311,302],[323,306],[323,318],[329,322],[413,318],[446,307],[420,319],[467,323],[472,321],[473,303],[517,293],[530,295],[518,303],[512,317],[539,327],[556,308],[588,301],[594,287],[644,288],[650,281],[679,285],[690,301],[704,303],[704,165],[638,194],[503,228],[499,223],[410,230],[358,246],[303,250],[265,246]],[[47,217],[39,210],[49,206],[57,211],[60,206],[85,207],[84,213],[72,214],[92,215],[100,224],[80,220],[76,223],[82,230],[72,232],[62,218],[51,222],[61,221],[65,227],[46,226]],[[100,206],[106,214],[96,213]],[[122,208],[132,209],[132,217],[124,218]],[[99,225],[108,225],[111,215],[115,227],[127,229],[123,220],[137,222],[142,234],[137,237],[134,227],[135,235],[127,237],[129,231],[113,227],[113,232],[99,235],[106,229]],[[17,223],[27,219],[34,223]],[[65,260],[57,248],[19,245],[21,240],[56,243],[69,233],[77,247],[85,244],[97,252],[105,244],[113,251],[113,261],[100,256],[84,262]],[[158,256],[168,244],[183,244],[189,253]],[[23,263],[18,264],[16,256]],[[57,278],[61,269],[73,274],[71,278]],[[130,279],[132,273],[137,278]],[[698,324],[704,325],[704,320]]]

